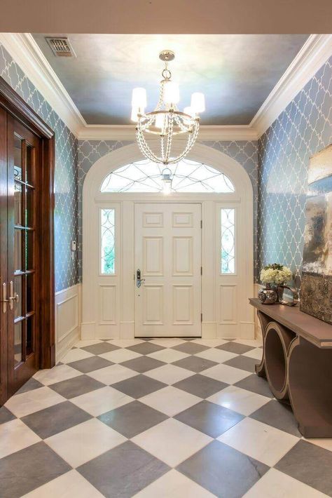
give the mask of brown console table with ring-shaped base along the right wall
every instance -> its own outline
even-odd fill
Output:
[[[305,438],[332,437],[332,325],[282,304],[257,309],[263,358],[256,374],[277,400],[290,403]]]

